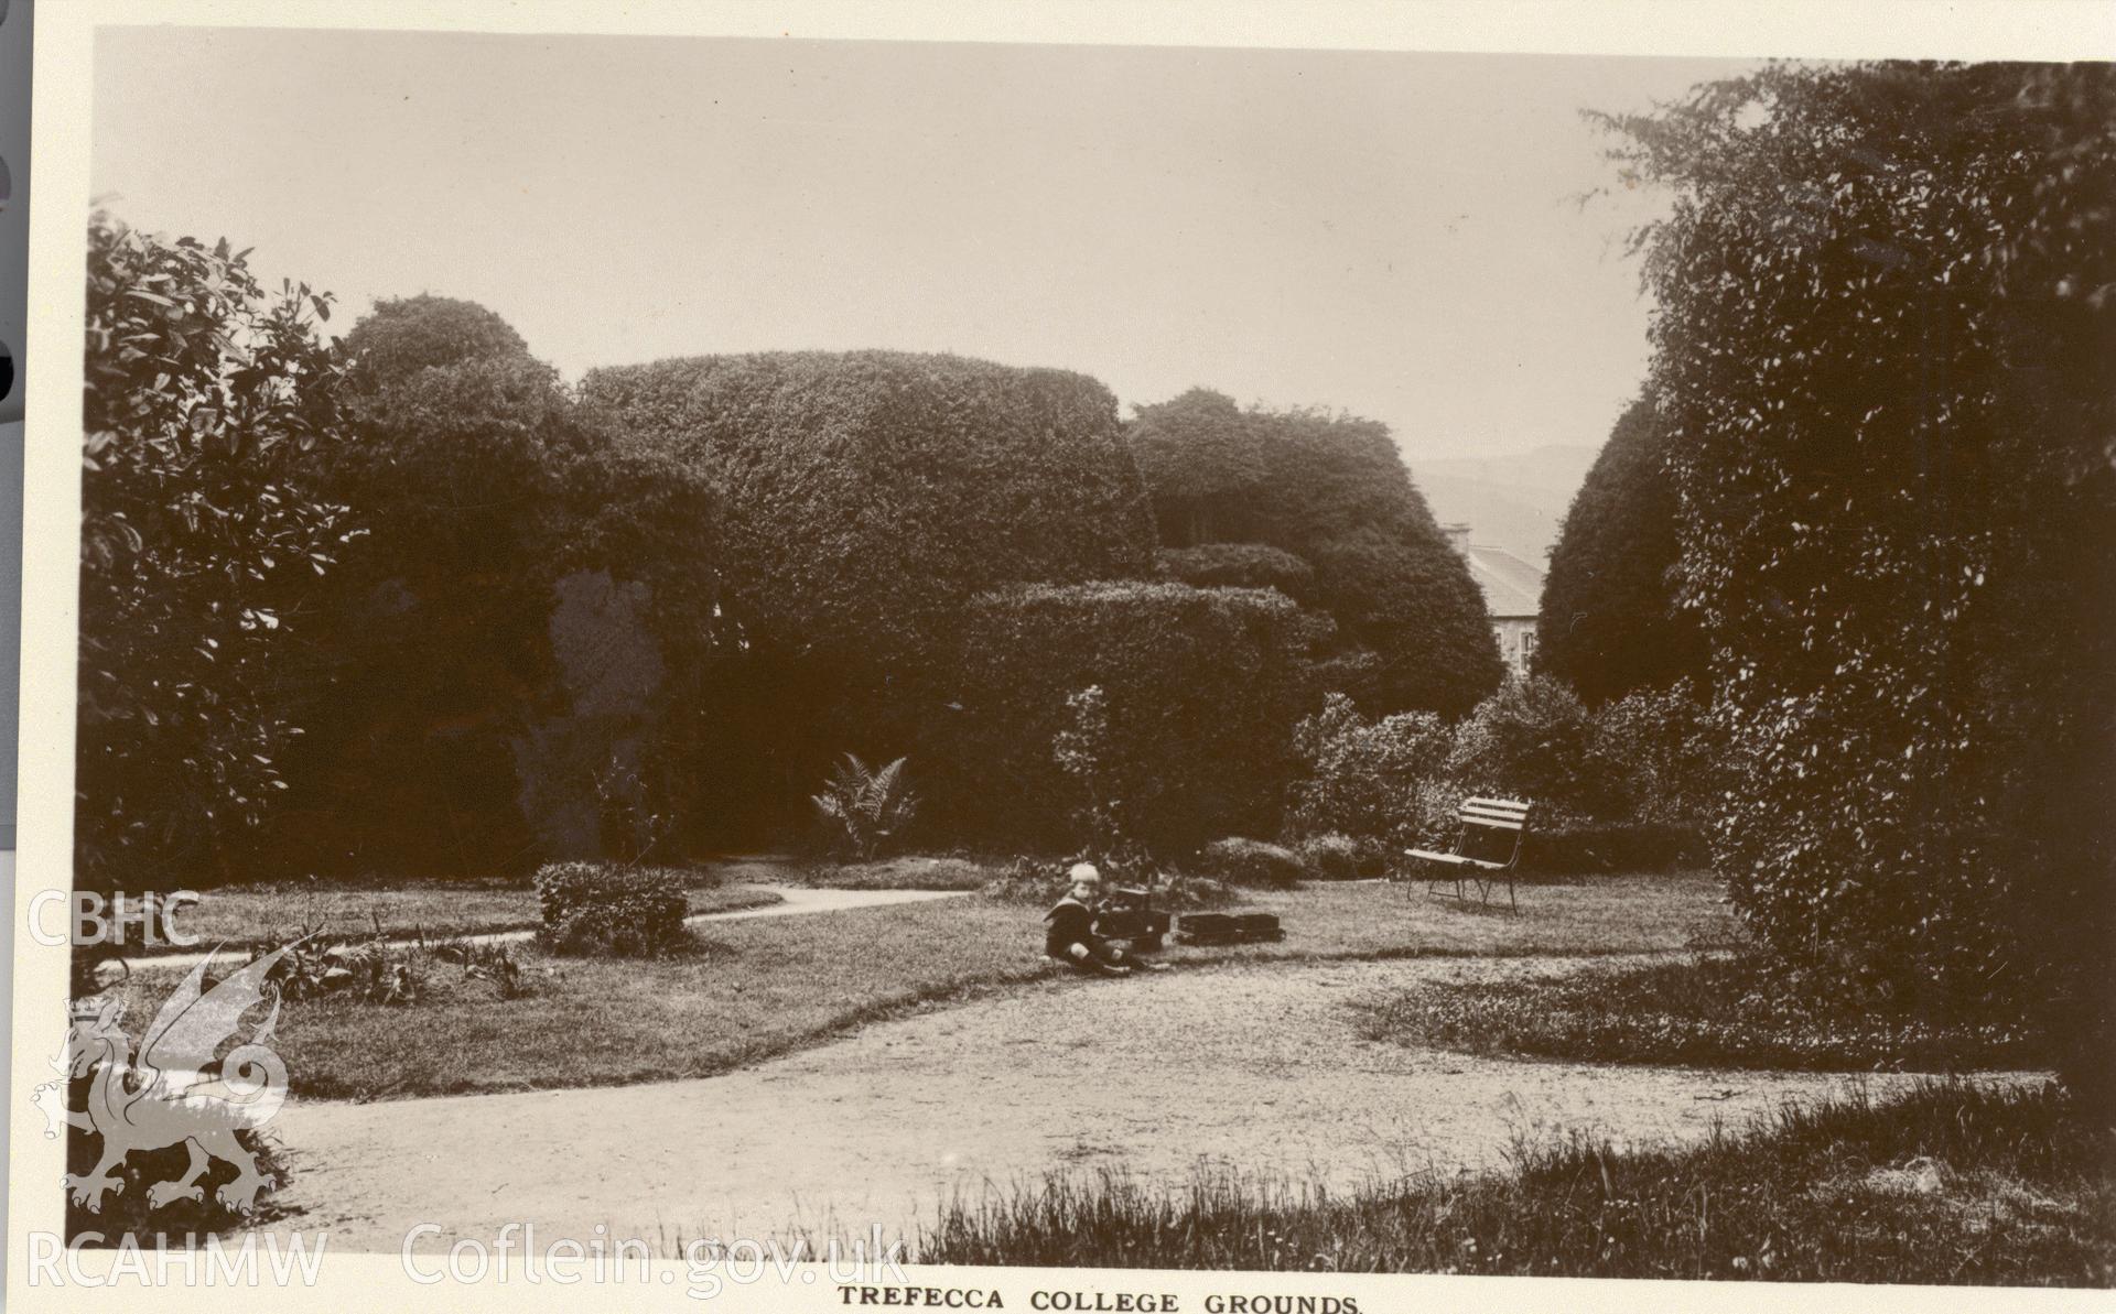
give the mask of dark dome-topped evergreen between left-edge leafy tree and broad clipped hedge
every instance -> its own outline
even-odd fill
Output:
[[[300,669],[279,686],[307,734],[288,753],[303,813],[273,827],[296,870],[518,876],[550,846],[544,722],[565,713],[550,624],[571,540],[576,406],[485,307],[385,300],[345,339],[353,442],[317,451],[362,535],[324,582]],[[607,747],[576,745],[584,764]]]

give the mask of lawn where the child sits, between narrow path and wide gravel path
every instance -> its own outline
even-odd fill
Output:
[[[1733,923],[1701,876],[1538,887],[1521,916],[1407,897],[1382,884],[1259,893],[1282,944],[1187,950],[1176,965],[1418,954],[1678,950]],[[1062,973],[1041,956],[1041,908],[963,895],[901,908],[707,927],[667,961],[521,950],[531,994],[499,999],[436,965],[415,1005],[288,1001],[277,1050],[296,1094],[398,1098],[705,1077],[931,1001]],[[159,978],[159,980],[157,980]],[[1083,982],[1086,984],[1086,982]],[[1121,988],[1121,984],[1111,984]],[[150,1018],[165,971],[142,971],[127,1020]]]

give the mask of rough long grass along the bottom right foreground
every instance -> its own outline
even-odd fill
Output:
[[[1786,1107],[1705,1145],[1521,1145],[1515,1170],[1157,1193],[1054,1176],[954,1204],[916,1263],[2110,1286],[2108,1128],[2055,1090],[1934,1083]]]

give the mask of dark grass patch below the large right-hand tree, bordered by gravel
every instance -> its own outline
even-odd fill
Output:
[[[1682,1066],[1938,1073],[2053,1062],[2021,1022],[1794,990],[1756,954],[1435,984],[1373,1009],[1363,1033],[1471,1054]]]

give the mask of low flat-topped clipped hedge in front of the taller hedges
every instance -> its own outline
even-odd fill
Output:
[[[933,726],[927,819],[988,838],[1075,838],[1081,800],[1052,743],[1071,728],[1066,698],[1098,686],[1109,791],[1132,836],[1166,851],[1274,834],[1314,639],[1314,622],[1267,590],[1105,582],[980,595],[954,709]]]

